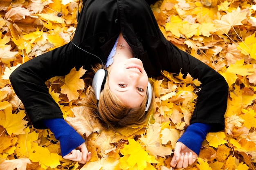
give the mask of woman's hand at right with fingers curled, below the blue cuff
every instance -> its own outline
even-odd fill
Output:
[[[192,165],[198,155],[193,152],[193,150],[189,149],[186,145],[182,142],[177,142],[174,150],[174,155],[171,160],[171,166],[174,168],[187,168],[189,165]]]

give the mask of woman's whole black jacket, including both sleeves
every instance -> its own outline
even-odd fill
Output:
[[[167,42],[144,0],[87,0],[79,16],[72,42],[106,59],[122,32],[135,56],[142,60],[148,76],[162,70],[189,73],[198,78],[198,93],[191,123],[212,124],[211,131],[224,128],[228,86],[225,79],[206,64]],[[35,128],[45,128],[42,119],[60,118],[61,110],[49,95],[45,81],[66,75],[74,66],[89,69],[99,59],[68,43],[35,57],[18,67],[10,76],[13,89],[22,100]]]

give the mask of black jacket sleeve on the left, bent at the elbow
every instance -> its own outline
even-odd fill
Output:
[[[45,81],[67,75],[75,66],[90,63],[69,43],[20,65],[10,75],[13,90],[25,106],[35,128],[46,128],[43,119],[62,118],[62,112],[49,94]]]

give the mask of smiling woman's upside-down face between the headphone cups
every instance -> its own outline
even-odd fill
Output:
[[[119,58],[120,59],[120,58]],[[127,57],[110,66],[108,84],[110,91],[129,107],[140,106],[147,95],[148,75],[141,60]]]

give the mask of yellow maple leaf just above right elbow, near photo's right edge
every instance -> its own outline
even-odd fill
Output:
[[[235,64],[231,64],[227,71],[229,73],[235,73],[238,75],[252,75],[256,68],[253,68],[253,64],[246,64],[244,65],[245,60],[238,60]]]

